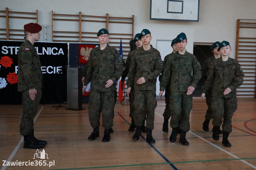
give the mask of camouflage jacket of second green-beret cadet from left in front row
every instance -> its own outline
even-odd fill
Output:
[[[147,51],[143,46],[134,50],[131,56],[131,64],[128,73],[127,87],[135,90],[156,90],[156,78],[163,69],[163,61],[159,51],[152,47]],[[136,81],[145,78],[145,83],[137,84]]]

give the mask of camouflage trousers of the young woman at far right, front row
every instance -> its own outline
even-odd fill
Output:
[[[220,126],[224,132],[232,132],[232,116],[237,110],[237,98],[212,97],[213,126]],[[223,118],[223,121],[222,121]]]

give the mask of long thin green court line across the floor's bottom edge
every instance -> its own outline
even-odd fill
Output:
[[[199,161],[183,161],[183,162],[163,162],[163,163],[150,163],[150,164],[130,164],[130,165],[113,165],[113,166],[95,166],[95,167],[81,167],[81,168],[65,168],[58,170],[73,170],[73,169],[95,169],[95,168],[115,168],[115,167],[126,167],[126,166],[147,166],[147,165],[164,165],[164,164],[180,164],[180,163],[194,163],[194,162],[214,162],[214,161],[234,161],[234,160],[253,160],[256,157],[250,158],[233,158],[233,159],[214,159],[214,160],[199,160]],[[56,169],[50,169],[56,170]]]

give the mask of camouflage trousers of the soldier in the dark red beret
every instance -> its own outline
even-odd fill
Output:
[[[34,130],[34,117],[37,113],[39,102],[42,97],[42,89],[37,89],[35,100],[29,97],[28,89],[22,92],[22,109],[23,114],[20,119],[20,135],[28,135]]]

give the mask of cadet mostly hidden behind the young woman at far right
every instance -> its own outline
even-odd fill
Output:
[[[214,56],[207,58],[205,60],[205,63],[202,65],[202,80],[203,81],[205,81],[206,78],[207,78],[206,74],[207,74],[207,71],[209,70],[209,67],[210,67],[212,61],[217,59],[217,58],[220,58],[220,51],[218,51],[219,45],[220,45],[219,41],[212,44],[211,51],[213,52]],[[212,88],[213,88],[213,84],[207,90],[207,92],[205,93],[206,104],[208,106],[208,109],[207,109],[206,114],[205,114],[205,121],[203,123],[203,130],[206,131],[206,132],[209,131],[209,122],[212,119],[212,107],[211,107]],[[202,98],[201,98],[201,101],[202,101]],[[214,128],[212,129],[212,131],[214,131]],[[220,133],[222,133],[222,130],[220,130]]]

